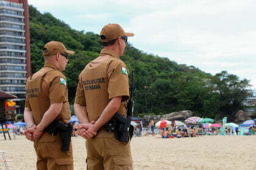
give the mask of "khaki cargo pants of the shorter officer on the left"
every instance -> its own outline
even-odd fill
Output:
[[[69,145],[69,151],[62,151],[59,135],[52,137],[46,133],[34,142],[37,170],[73,170],[72,143]]]

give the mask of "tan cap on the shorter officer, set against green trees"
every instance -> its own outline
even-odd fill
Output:
[[[59,41],[50,41],[43,47],[43,55],[49,56],[49,55],[55,55],[57,53],[68,53],[71,55],[74,55],[73,51],[67,50],[64,44]]]

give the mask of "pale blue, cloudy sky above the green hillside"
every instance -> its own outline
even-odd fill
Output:
[[[108,23],[135,36],[137,49],[207,73],[227,70],[256,89],[254,0],[29,0],[76,30],[98,33]]]

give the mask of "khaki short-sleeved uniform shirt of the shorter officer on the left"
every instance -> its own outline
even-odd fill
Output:
[[[68,123],[71,114],[66,77],[54,64],[46,63],[27,79],[25,107],[32,110],[35,124],[39,124],[53,103],[63,103],[62,110],[55,120]]]

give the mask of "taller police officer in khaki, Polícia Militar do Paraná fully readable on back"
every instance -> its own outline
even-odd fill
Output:
[[[133,33],[124,32],[118,24],[105,25],[100,33],[101,54],[79,75],[74,109],[82,122],[79,134],[87,139],[89,170],[133,169],[130,142],[116,140],[102,127],[116,112],[127,115],[128,72],[120,60],[127,36]]]

